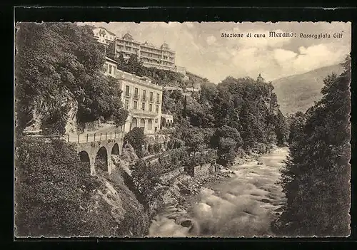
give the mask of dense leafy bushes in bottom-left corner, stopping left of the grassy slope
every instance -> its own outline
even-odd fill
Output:
[[[100,185],[89,165],[61,140],[18,138],[16,145],[16,235],[84,234],[89,217],[81,207]]]

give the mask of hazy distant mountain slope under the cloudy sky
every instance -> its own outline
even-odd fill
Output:
[[[343,67],[338,64],[273,80],[274,92],[278,97],[281,112],[285,114],[305,112],[315,101],[321,99],[323,78],[331,73],[339,75],[342,72]]]

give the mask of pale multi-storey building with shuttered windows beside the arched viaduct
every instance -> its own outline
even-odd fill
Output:
[[[161,114],[162,86],[152,83],[149,78],[120,71],[116,67],[116,61],[110,58],[106,58],[105,73],[118,80],[122,90],[121,100],[124,108],[129,111],[124,132],[142,127],[145,134],[155,133],[161,129],[161,115],[165,120],[165,127],[172,126],[172,115]]]

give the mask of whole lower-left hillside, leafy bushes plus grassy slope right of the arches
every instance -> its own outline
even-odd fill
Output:
[[[117,171],[109,182],[119,197],[102,197],[107,181],[91,176],[89,163],[63,140],[16,137],[15,163],[16,236],[146,234],[141,205]]]

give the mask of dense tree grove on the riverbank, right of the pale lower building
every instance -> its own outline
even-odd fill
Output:
[[[198,97],[164,93],[163,104],[165,112],[174,116],[174,137],[191,147],[191,152],[206,145],[217,149],[222,165],[230,165],[240,149],[264,152],[264,145],[288,139],[288,123],[271,83],[228,77],[218,85],[201,85]],[[211,136],[208,142],[205,131]],[[193,149],[194,145],[198,148]]]

